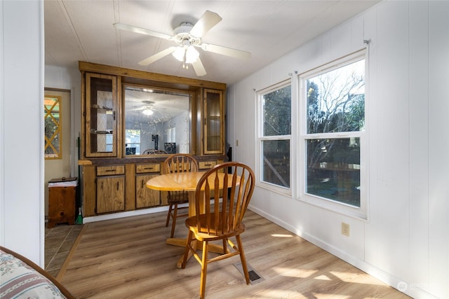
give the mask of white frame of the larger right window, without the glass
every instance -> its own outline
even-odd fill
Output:
[[[319,74],[332,71],[344,65],[357,62],[359,60],[365,60],[365,128],[362,131],[357,132],[337,132],[337,133],[323,133],[323,134],[307,134],[307,91],[305,90],[307,79],[318,76]],[[368,122],[368,50],[363,49],[351,55],[347,55],[338,60],[334,60],[328,64],[325,64],[319,68],[313,69],[311,71],[304,72],[297,76],[298,84],[298,97],[299,97],[299,111],[298,116],[300,121],[298,122],[300,136],[298,138],[298,148],[299,148],[299,159],[297,160],[298,167],[298,189],[297,189],[297,200],[302,200],[303,202],[308,202],[314,204],[318,207],[324,209],[329,209],[331,211],[336,211],[340,214],[347,216],[361,218],[363,220],[368,219],[368,133],[369,128]],[[358,137],[360,138],[360,183],[361,183],[361,194],[360,194],[360,207],[354,207],[349,204],[344,204],[342,202],[336,202],[333,200],[326,199],[324,197],[319,197],[317,195],[311,195],[306,193],[307,186],[307,140],[308,139],[326,139],[326,138],[349,138]]]

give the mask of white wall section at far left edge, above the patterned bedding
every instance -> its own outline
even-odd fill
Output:
[[[0,244],[43,266],[43,1],[0,20]]]

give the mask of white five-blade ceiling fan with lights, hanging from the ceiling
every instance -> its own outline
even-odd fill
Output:
[[[124,23],[115,23],[114,27],[120,30],[127,30],[130,32],[136,32],[139,34],[146,34],[149,36],[159,37],[160,39],[168,39],[170,41],[175,41],[177,46],[171,46],[156,53],[145,60],[139,62],[140,65],[146,66],[160,60],[166,55],[173,54],[173,56],[182,62],[182,67],[188,68],[187,64],[192,64],[197,76],[206,75],[206,69],[204,69],[203,63],[199,58],[199,52],[195,47],[201,48],[205,51],[217,53],[221,55],[226,55],[229,57],[235,57],[240,59],[248,59],[251,53],[237,50],[233,48],[227,48],[224,46],[217,46],[210,43],[202,43],[201,38],[206,34],[212,27],[217,25],[222,18],[217,13],[211,11],[206,11],[203,13],[198,22],[193,25],[190,22],[182,22],[179,27],[175,28],[173,35],[163,34],[161,32],[154,32],[149,29],[144,29],[140,27],[135,27],[133,25],[128,25]]]

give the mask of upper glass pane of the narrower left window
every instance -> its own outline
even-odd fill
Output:
[[[290,135],[291,86],[263,95],[264,136]]]

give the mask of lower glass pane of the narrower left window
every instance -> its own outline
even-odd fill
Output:
[[[262,141],[263,181],[290,187],[290,140]]]

